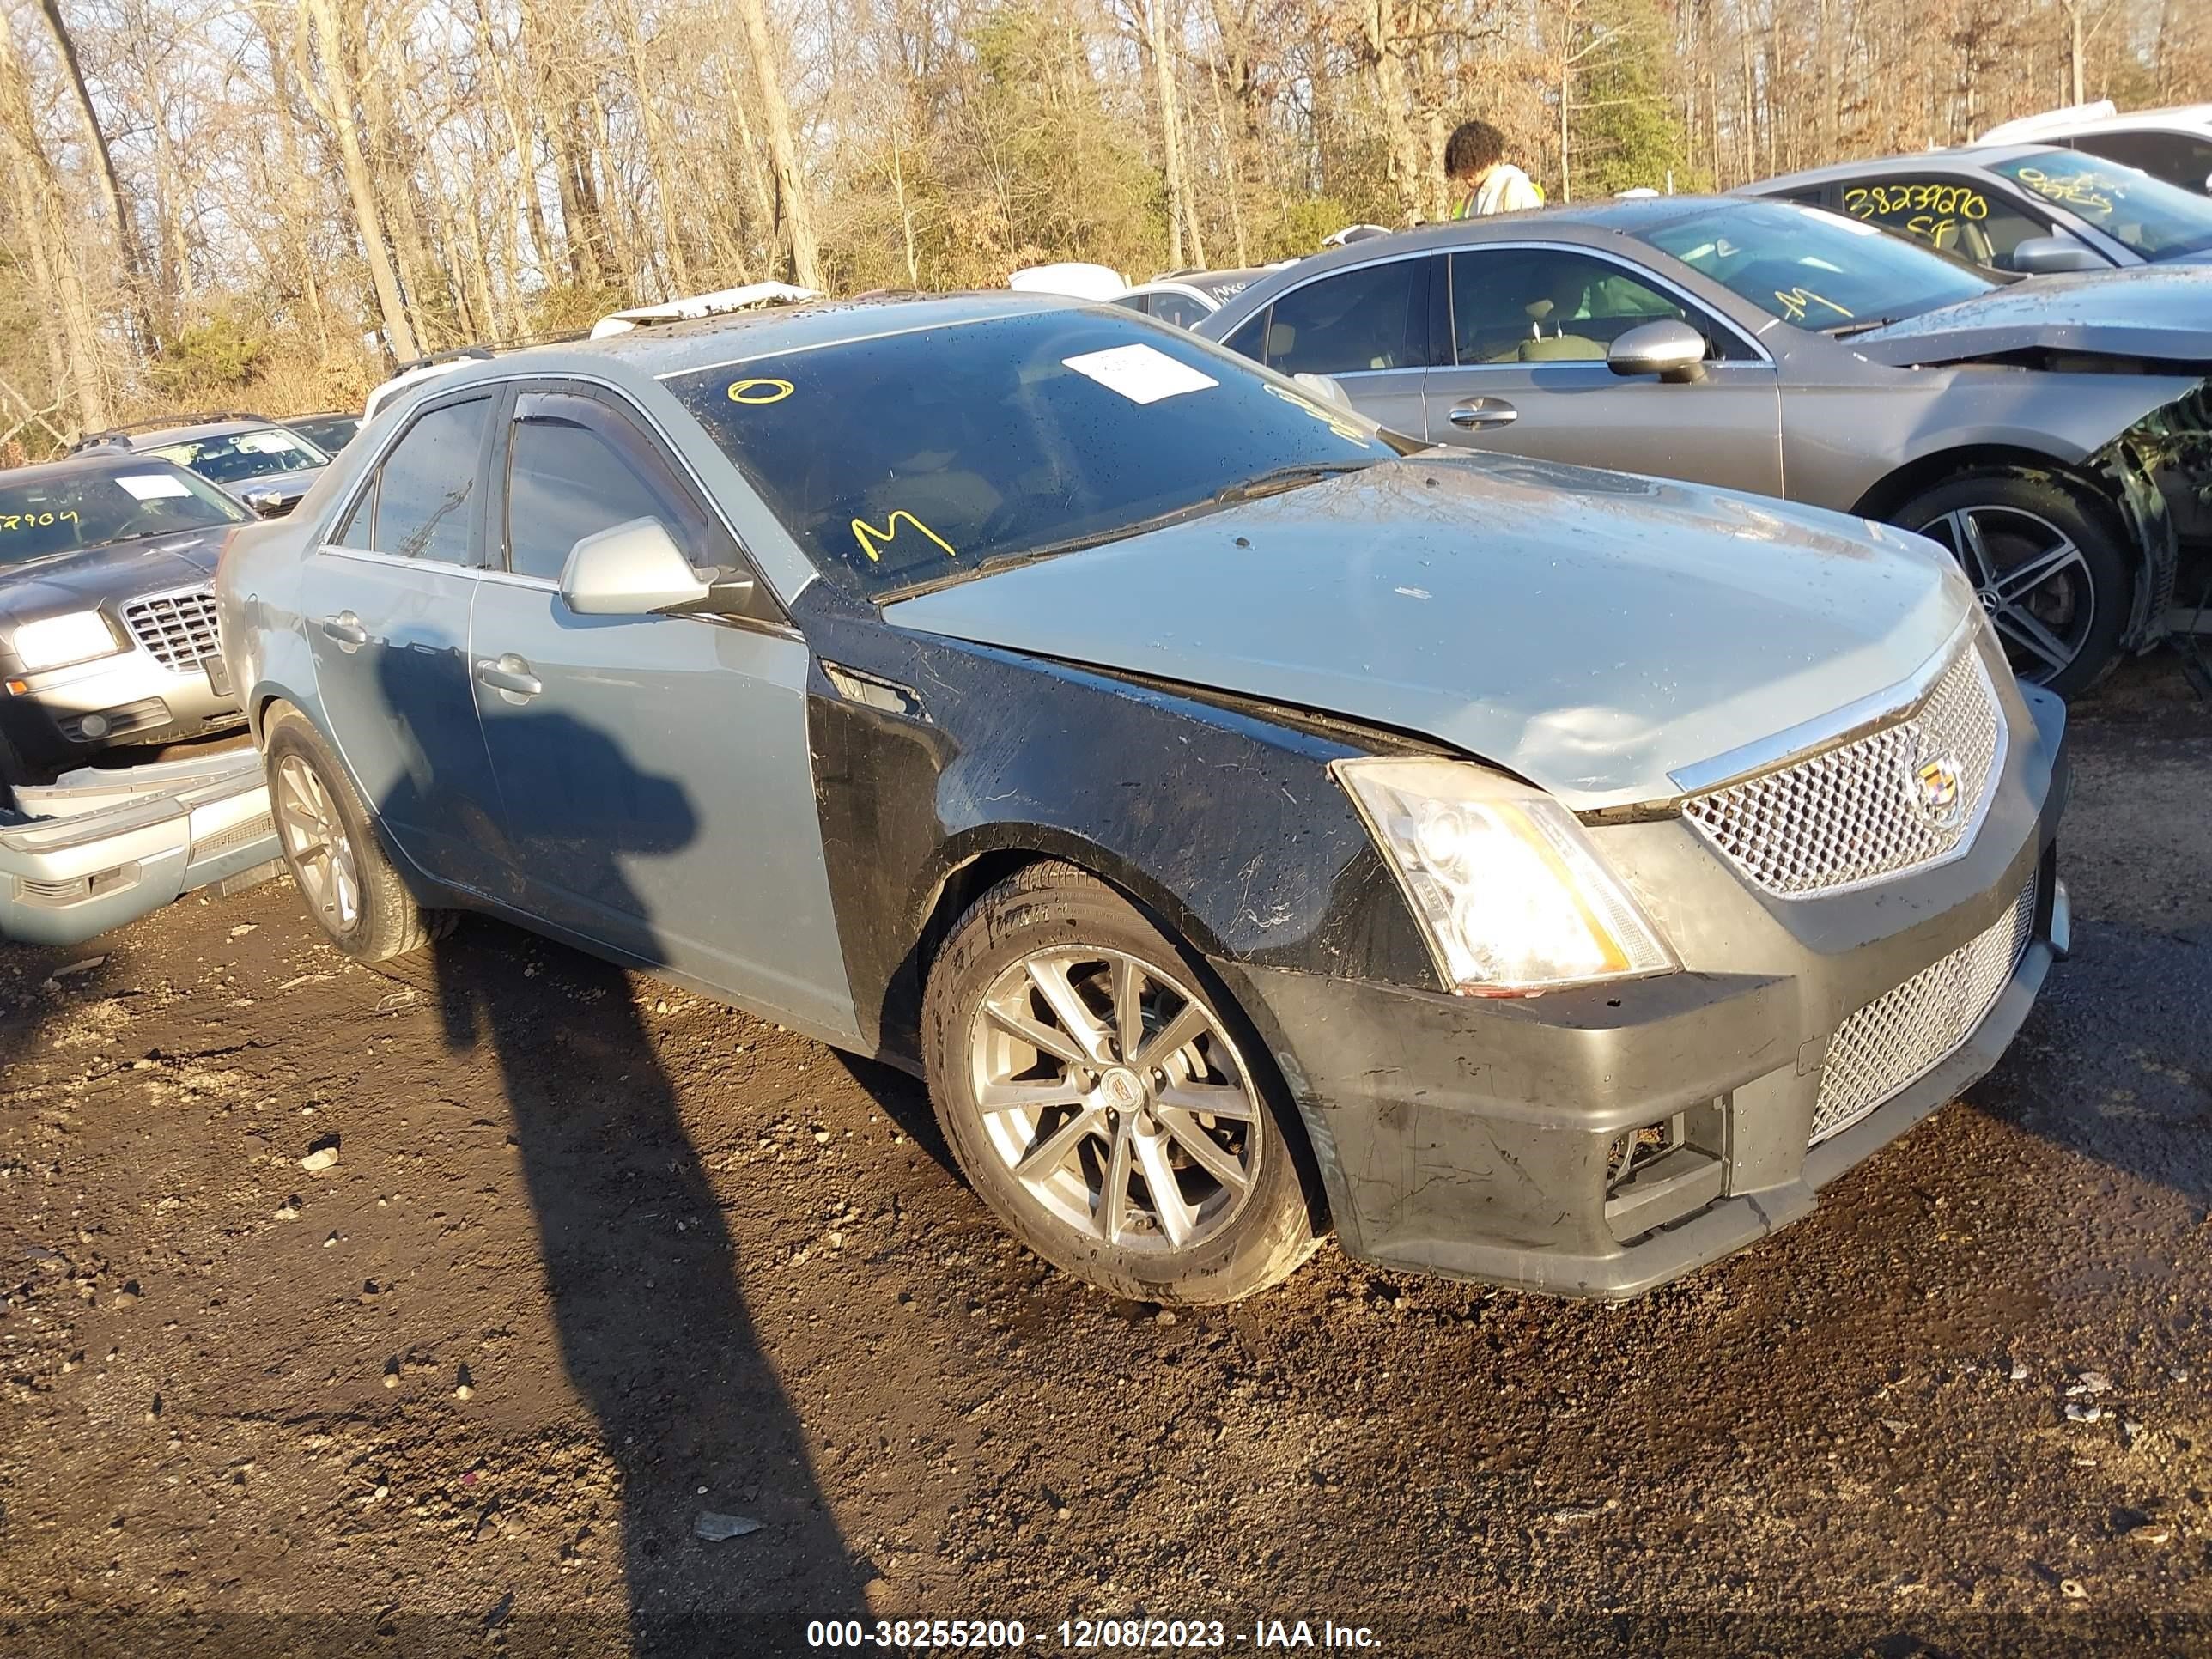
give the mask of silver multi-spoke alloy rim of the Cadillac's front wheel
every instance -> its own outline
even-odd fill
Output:
[[[1243,1208],[1265,1113],[1228,1033],[1175,973],[1060,947],[975,1009],[984,1141],[1060,1221],[1124,1250],[1186,1250]]]

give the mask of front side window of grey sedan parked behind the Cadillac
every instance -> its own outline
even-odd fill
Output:
[[[1621,334],[1668,319],[1703,334],[1710,356],[1732,354],[1732,336],[1710,319],[1610,259],[1564,248],[1451,254],[1451,334],[1460,365],[1604,363]]]

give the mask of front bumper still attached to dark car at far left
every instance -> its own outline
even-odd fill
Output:
[[[170,668],[139,644],[73,668],[0,675],[0,737],[38,770],[117,743],[177,743],[243,719],[237,699],[217,695],[199,664]]]

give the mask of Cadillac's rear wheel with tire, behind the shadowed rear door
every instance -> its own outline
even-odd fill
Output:
[[[356,962],[389,962],[438,938],[447,918],[416,905],[314,723],[296,708],[272,710],[261,750],[276,841],[323,936]]]

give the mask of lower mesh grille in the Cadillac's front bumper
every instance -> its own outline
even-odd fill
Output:
[[[1958,1053],[2020,967],[2035,933],[2035,880],[1986,933],[1843,1022],[1827,1044],[1812,1144],[1838,1135]]]

